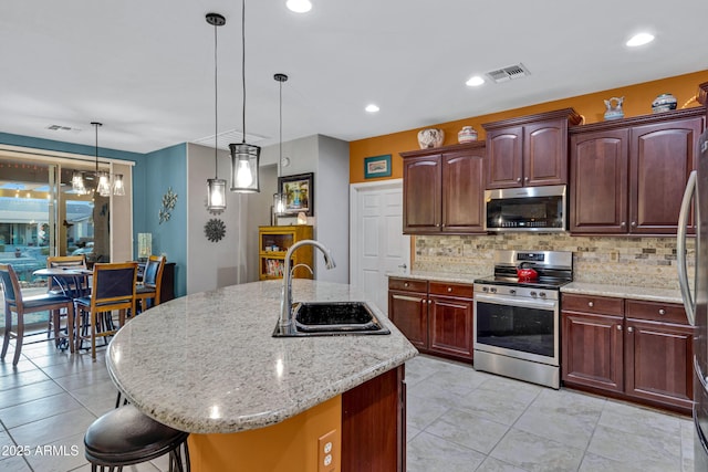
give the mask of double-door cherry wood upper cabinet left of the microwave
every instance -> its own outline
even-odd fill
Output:
[[[403,232],[483,232],[485,143],[400,153]]]

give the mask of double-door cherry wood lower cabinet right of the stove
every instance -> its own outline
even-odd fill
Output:
[[[563,294],[563,382],[690,413],[693,336],[678,304]]]

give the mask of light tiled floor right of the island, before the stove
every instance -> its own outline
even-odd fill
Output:
[[[408,471],[694,471],[693,421],[418,356]]]

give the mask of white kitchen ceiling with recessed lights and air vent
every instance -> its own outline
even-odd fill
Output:
[[[277,72],[290,76],[287,141],[361,139],[708,69],[705,0],[312,2],[305,14],[247,2],[249,141],[278,143]],[[238,0],[0,2],[0,132],[93,145],[98,120],[101,147],[138,153],[214,136],[210,11],[227,19],[219,133],[240,141]],[[639,30],[654,43],[626,48]],[[519,62],[530,76],[465,85]],[[372,102],[378,114],[364,112]]]

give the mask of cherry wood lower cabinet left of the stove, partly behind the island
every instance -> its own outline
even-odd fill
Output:
[[[425,354],[472,360],[473,289],[413,279],[388,280],[388,317]]]

